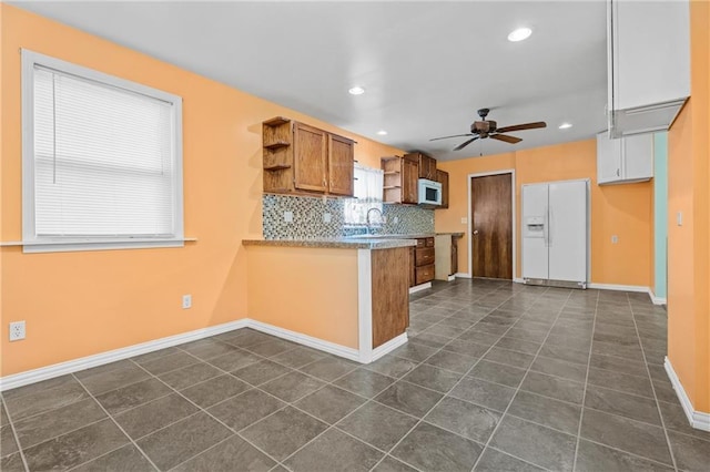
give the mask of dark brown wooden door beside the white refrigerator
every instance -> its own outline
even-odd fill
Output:
[[[513,279],[513,176],[471,179],[471,266],[474,277]]]

